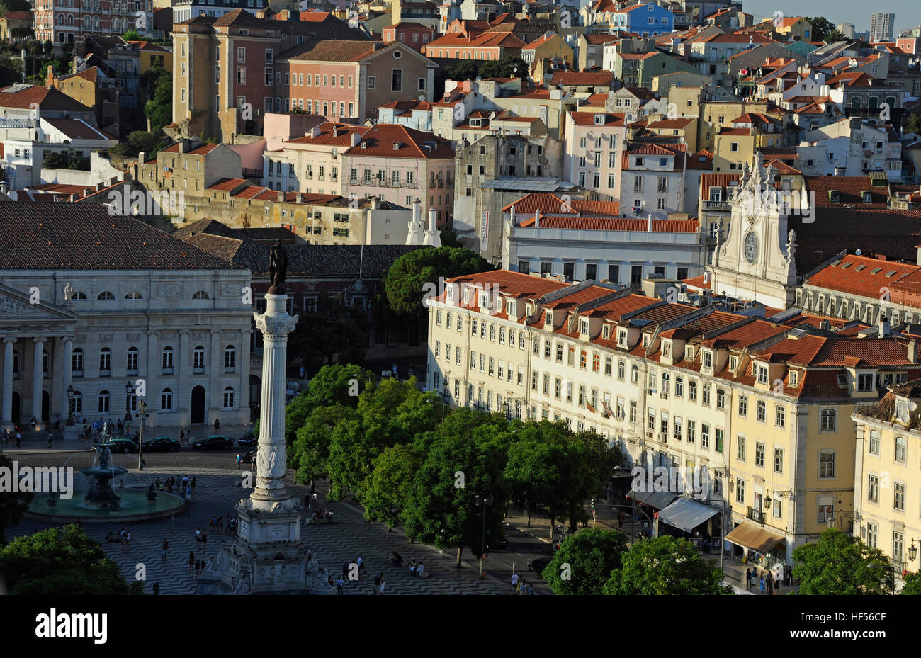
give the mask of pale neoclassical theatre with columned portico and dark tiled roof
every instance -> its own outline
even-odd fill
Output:
[[[0,203],[2,428],[250,421],[251,273],[93,203]]]

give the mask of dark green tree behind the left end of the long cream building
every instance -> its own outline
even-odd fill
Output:
[[[438,279],[493,270],[489,261],[470,249],[427,248],[403,254],[384,277],[384,290],[394,314],[422,320],[427,316],[423,294],[438,294]],[[426,289],[424,290],[424,286]]]

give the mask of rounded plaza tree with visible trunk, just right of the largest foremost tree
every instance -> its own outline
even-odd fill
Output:
[[[517,436],[508,449],[506,478],[516,498],[547,508],[553,540],[557,518],[588,518],[583,506],[597,491],[589,449],[562,422],[529,422]]]

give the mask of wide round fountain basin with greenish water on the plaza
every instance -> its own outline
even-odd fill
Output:
[[[48,494],[36,494],[25,516],[34,521],[48,521],[59,524],[73,524],[79,519],[81,523],[133,523],[136,521],[155,521],[180,514],[189,502],[175,493],[157,491],[157,500],[147,500],[147,490],[126,487],[115,490],[121,497],[121,508],[112,512],[108,507],[100,507],[87,502],[84,497],[87,490],[74,491],[70,500],[60,499],[54,507],[48,506]]]

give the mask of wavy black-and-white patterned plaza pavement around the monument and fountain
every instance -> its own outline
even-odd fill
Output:
[[[172,529],[173,524],[169,519],[126,524],[124,527],[132,534],[131,547],[122,548],[117,543],[104,542],[105,536],[109,532],[117,534],[122,524],[117,521],[111,524],[84,524],[87,536],[102,542],[104,550],[112,560],[119,564],[127,580],[134,581],[139,571],[146,570],[146,592],[150,592],[153,583],[157,582],[161,595],[194,594],[196,583],[194,575],[189,572],[189,552],[193,551],[196,558],[210,559],[216,554],[223,541],[231,541],[231,536],[226,530],[220,536],[210,532],[211,516],[232,513],[234,502],[249,495],[249,490],[242,490],[239,487],[242,471],[237,471],[235,468],[205,467],[195,463],[200,460],[201,453],[197,455],[181,453],[183,458],[187,455],[190,458],[188,470],[178,469],[172,465],[169,468],[156,468],[152,465],[144,473],[129,472],[123,478],[126,487],[146,488],[157,476],[161,479],[186,473],[190,478],[192,475],[195,476],[196,487],[192,494],[192,503],[181,516],[175,518]],[[33,456],[38,457],[34,453]],[[216,456],[218,463],[223,459],[227,461],[232,459],[232,456],[224,453]],[[24,457],[25,455],[20,456],[20,461],[26,462]],[[60,455],[48,455],[47,457],[48,463],[61,463]],[[209,461],[213,462],[215,459],[212,458]],[[75,467],[83,468],[83,465],[75,465]],[[292,474],[289,472],[289,478]],[[292,486],[291,491],[293,495],[303,496],[306,489]],[[478,577],[478,565],[472,563],[469,551],[465,556],[466,559],[463,560],[463,567],[457,569],[454,554],[446,554],[424,545],[410,544],[409,540],[403,537],[402,532],[388,532],[386,525],[365,521],[360,509],[351,503],[326,502],[325,486],[318,485],[317,493],[320,497],[321,508],[332,509],[335,514],[335,523],[333,525],[307,525],[305,521],[301,537],[317,551],[321,565],[332,574],[334,579],[338,578],[342,572],[344,562],[353,562],[359,557],[362,558],[367,569],[367,580],[360,583],[346,582],[345,594],[372,594],[374,575],[379,572],[383,572],[386,576],[385,593],[389,595],[510,593],[511,587],[507,583],[511,572],[504,564],[508,561],[507,556],[496,553],[495,568],[501,571],[497,571],[495,575],[490,573],[481,580]],[[13,528],[10,534],[25,534],[33,529],[49,526],[52,524],[27,519],[17,528]],[[195,546],[194,533],[198,526],[209,530],[208,541],[205,545],[207,548],[200,549]],[[166,562],[161,556],[164,537],[169,538]],[[408,565],[410,560],[422,560],[426,571],[431,576],[427,579],[413,578],[409,575],[408,566],[399,569],[392,567],[388,561],[391,550],[401,553],[405,565]],[[524,573],[525,578],[528,575],[527,572]],[[536,577],[536,574],[532,582],[535,594],[549,594],[549,590]],[[332,593],[334,592],[333,588]]]

